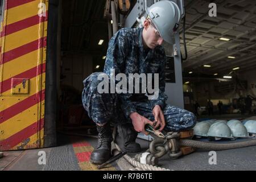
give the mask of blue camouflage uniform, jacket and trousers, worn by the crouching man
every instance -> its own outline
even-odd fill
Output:
[[[122,28],[109,42],[106,55],[104,73],[110,77],[110,69],[115,70],[115,75],[125,73],[159,73],[159,97],[148,100],[143,93],[102,93],[97,91],[101,80],[97,76],[101,72],[92,73],[87,77],[82,92],[82,103],[88,115],[95,123],[113,124],[131,122],[129,115],[137,112],[154,121],[152,109],[155,105],[162,108],[166,119],[166,130],[181,131],[191,128],[196,123],[193,113],[166,104],[167,96],[164,94],[164,68],[166,55],[162,46],[154,49],[143,48],[142,28]]]

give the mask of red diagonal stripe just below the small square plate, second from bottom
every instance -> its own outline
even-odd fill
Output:
[[[0,112],[0,124],[44,100],[44,90]]]

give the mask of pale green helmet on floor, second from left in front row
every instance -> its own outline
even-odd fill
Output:
[[[225,122],[213,123],[208,131],[208,137],[232,138],[232,131]]]

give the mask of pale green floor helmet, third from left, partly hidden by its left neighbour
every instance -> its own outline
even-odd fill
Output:
[[[248,137],[246,127],[240,121],[233,120],[233,122],[229,121],[228,126],[232,131],[232,137],[236,138],[246,138]]]

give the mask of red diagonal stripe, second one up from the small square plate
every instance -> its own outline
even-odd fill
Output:
[[[2,63],[7,63],[11,60],[14,60],[20,56],[26,55],[27,53],[30,53],[32,51],[35,51],[39,48],[46,47],[47,38],[40,38],[38,40],[35,40],[31,43],[24,44],[23,46],[20,46],[18,48],[12,49],[8,52],[3,53],[2,56]]]

